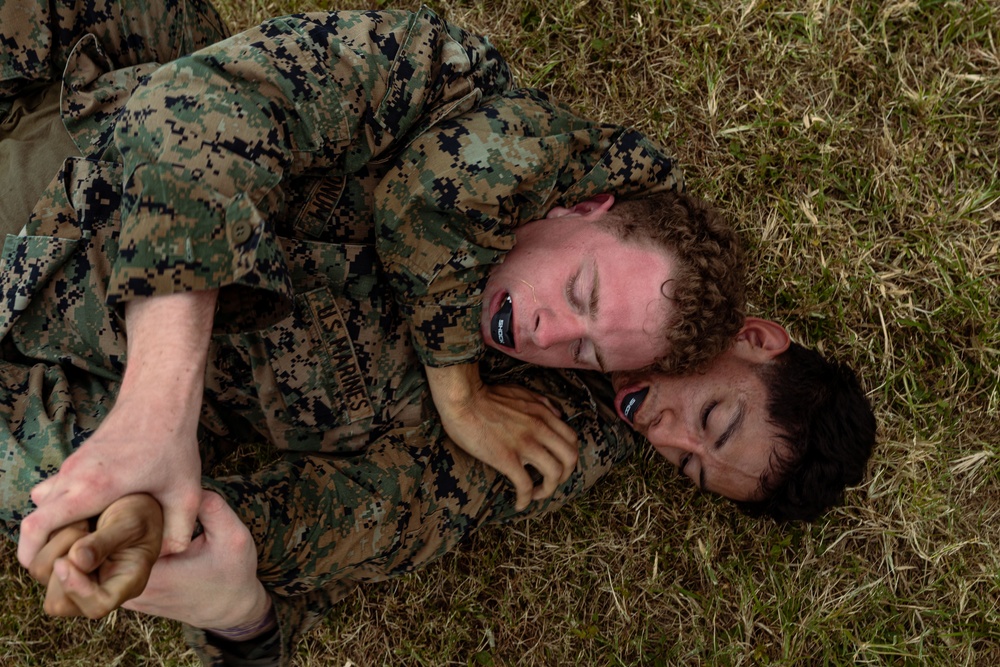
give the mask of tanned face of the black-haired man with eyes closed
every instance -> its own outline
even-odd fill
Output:
[[[737,343],[703,374],[614,378],[619,416],[699,488],[733,500],[755,499],[771,453],[783,446],[745,351]]]

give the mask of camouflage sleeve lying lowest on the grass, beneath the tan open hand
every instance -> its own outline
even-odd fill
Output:
[[[610,389],[600,376],[522,366],[505,381],[554,396],[581,436],[569,480],[521,513],[505,478],[455,446],[436,419],[390,432],[358,457],[303,457],[249,477],[205,480],[253,534],[286,656],[354,584],[423,567],[486,523],[561,507],[635,448],[631,430],[607,407]]]

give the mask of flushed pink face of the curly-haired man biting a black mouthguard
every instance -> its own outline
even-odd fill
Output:
[[[483,295],[487,345],[541,366],[603,371],[641,368],[665,351],[673,260],[619,241],[593,223],[602,213],[559,209],[518,229]]]

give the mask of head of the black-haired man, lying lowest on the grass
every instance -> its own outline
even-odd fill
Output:
[[[615,403],[681,474],[752,514],[811,520],[861,481],[875,417],[857,376],[747,318],[735,342],[685,376],[619,373]]]

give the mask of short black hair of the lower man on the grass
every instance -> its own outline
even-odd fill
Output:
[[[768,420],[786,446],[772,454],[759,499],[737,505],[753,516],[811,521],[864,478],[875,415],[854,371],[797,343],[757,374],[768,388]]]

